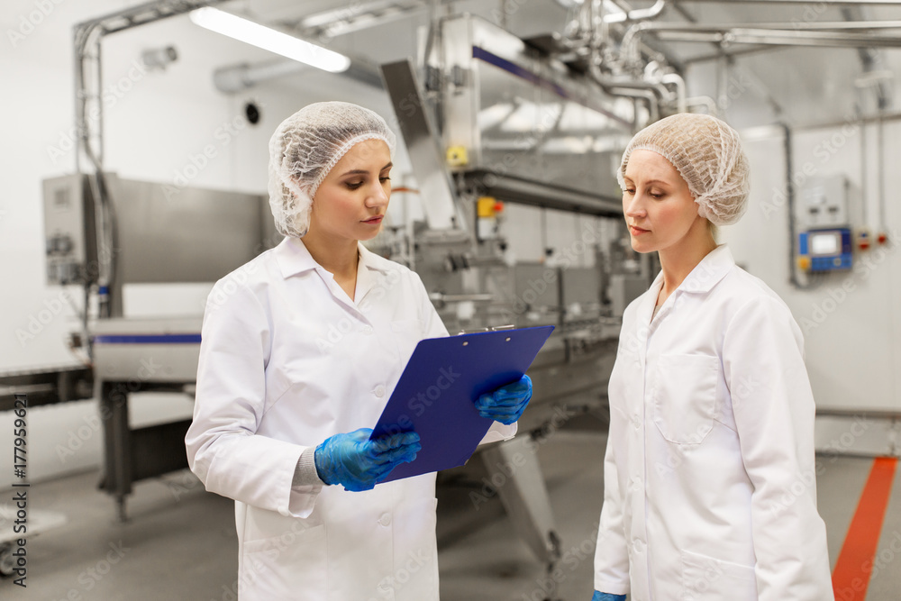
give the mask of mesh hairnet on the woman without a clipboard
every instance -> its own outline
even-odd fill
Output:
[[[674,114],[651,123],[629,142],[616,179],[635,150],[652,150],[669,160],[695,197],[697,213],[714,225],[735,223],[747,208],[748,159],[738,132],[709,114]]]

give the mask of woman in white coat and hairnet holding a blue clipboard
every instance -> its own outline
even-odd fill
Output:
[[[369,441],[416,343],[447,335],[420,278],[359,243],[385,216],[394,143],[348,103],[279,125],[269,201],[285,239],[207,301],[187,455],[235,500],[241,601],[438,599],[434,474],[377,486],[418,436]],[[523,378],[478,399],[503,422],[486,441],[515,433],[529,396]]]

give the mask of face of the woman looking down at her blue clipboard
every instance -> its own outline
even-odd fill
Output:
[[[343,240],[374,238],[391,196],[391,167],[391,152],[384,141],[354,144],[316,190],[310,231]]]

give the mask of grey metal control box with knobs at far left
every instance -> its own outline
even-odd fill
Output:
[[[43,182],[47,283],[94,281],[97,237],[94,200],[87,176],[73,174]],[[95,269],[90,269],[93,266]]]

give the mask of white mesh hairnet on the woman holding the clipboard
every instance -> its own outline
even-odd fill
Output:
[[[300,238],[310,227],[316,190],[354,144],[382,140],[394,153],[396,137],[368,108],[346,102],[306,105],[269,140],[269,206],[276,229]]]

